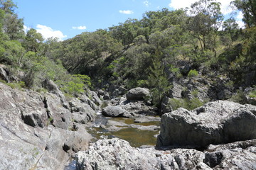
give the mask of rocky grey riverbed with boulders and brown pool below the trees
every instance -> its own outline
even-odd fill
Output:
[[[105,93],[67,99],[43,86],[0,83],[0,169],[256,169],[256,106],[215,101],[159,118],[146,89],[100,109]]]

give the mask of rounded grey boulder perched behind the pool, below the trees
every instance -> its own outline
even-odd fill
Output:
[[[146,100],[149,98],[150,93],[149,89],[137,87],[134,89],[130,89],[126,94],[127,100]]]

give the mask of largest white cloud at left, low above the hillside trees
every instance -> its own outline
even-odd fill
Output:
[[[38,24],[36,26],[36,31],[38,33],[41,33],[43,35],[43,38],[58,38],[60,41],[63,40],[63,38],[66,38],[67,35],[63,35],[63,33],[60,30],[53,30],[52,28],[48,26],[43,26]]]

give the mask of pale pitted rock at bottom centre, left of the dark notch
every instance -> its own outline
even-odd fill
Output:
[[[111,157],[110,157],[111,155]],[[160,151],[134,148],[117,138],[98,140],[85,152],[78,152],[77,169],[193,169],[203,164],[203,152],[195,149]],[[207,165],[205,165],[207,167]]]

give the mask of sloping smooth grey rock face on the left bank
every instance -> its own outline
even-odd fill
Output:
[[[68,103],[60,93],[20,91],[0,83],[1,168],[63,169],[74,152],[87,148],[91,136],[75,123],[70,105],[80,106],[87,121],[95,111],[80,101]]]

